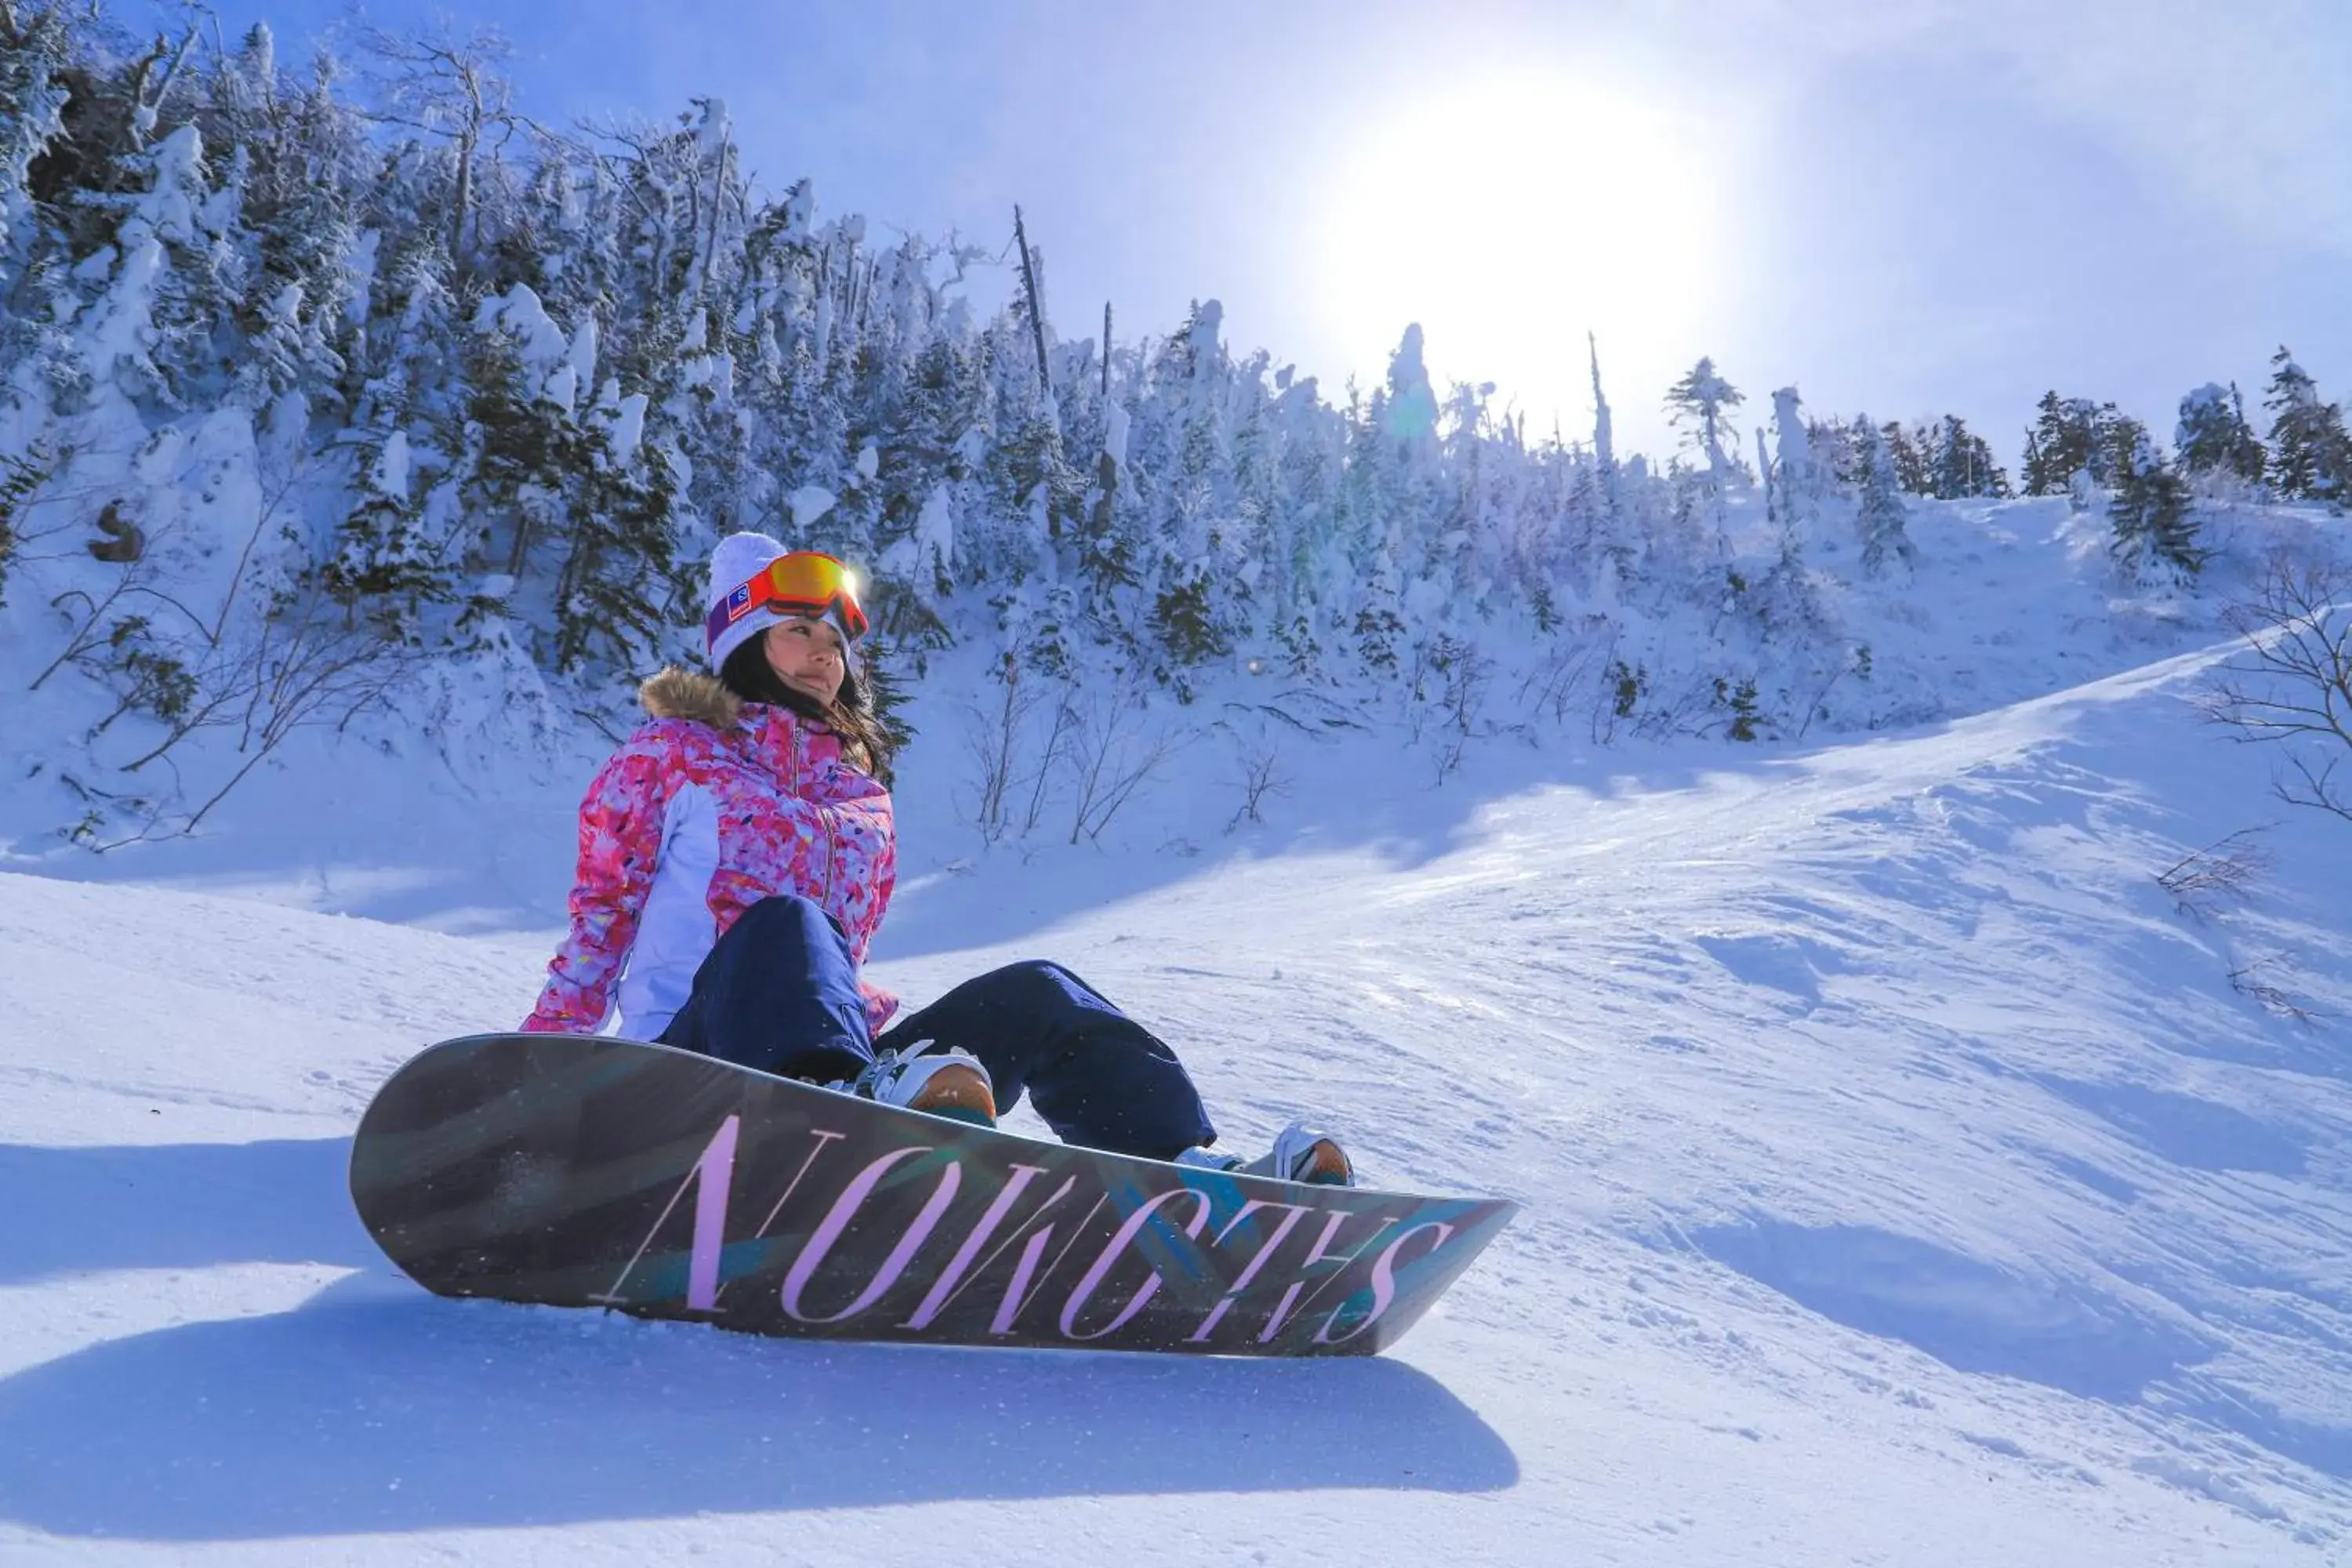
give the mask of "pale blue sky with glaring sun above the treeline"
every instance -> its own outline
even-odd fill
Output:
[[[339,16],[228,0],[280,59]],[[2171,435],[2284,341],[2352,388],[2352,12],[2321,0],[739,5],[383,0],[489,24],[541,118],[729,103],[823,212],[1002,242],[1091,336],[1225,303],[1338,395],[1421,320],[1439,378],[1625,440],[1712,355],[1755,416],[1957,411],[2016,461],[2056,386]]]

